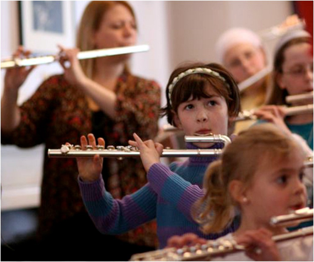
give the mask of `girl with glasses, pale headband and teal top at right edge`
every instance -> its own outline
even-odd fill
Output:
[[[311,35],[304,30],[289,32],[279,40],[275,48],[273,85],[266,100],[267,106],[255,111],[258,118],[274,123],[286,132],[300,135],[311,150],[313,150],[313,113],[285,117],[280,106],[313,103],[313,98],[293,104],[286,102],[289,95],[313,92],[312,50]],[[313,151],[309,153],[312,155]]]

